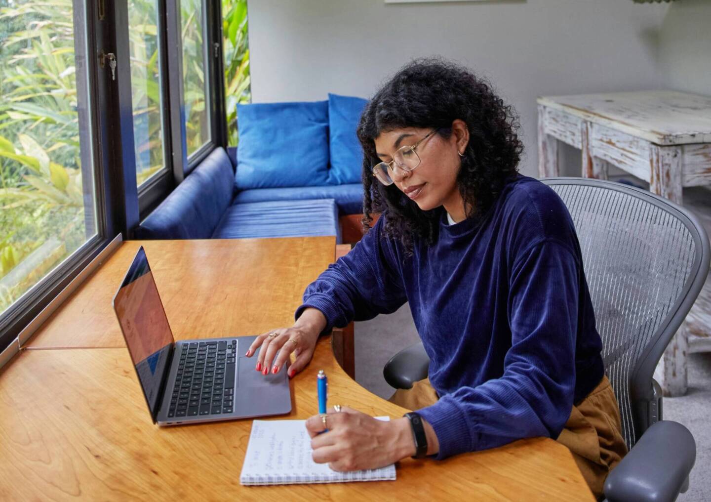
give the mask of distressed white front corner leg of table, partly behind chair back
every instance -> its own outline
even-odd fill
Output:
[[[649,165],[651,168],[649,190],[680,205],[682,203],[680,147],[651,144]],[[684,322],[669,342],[655,371],[655,378],[665,396],[679,396],[686,393],[688,345],[688,329]]]

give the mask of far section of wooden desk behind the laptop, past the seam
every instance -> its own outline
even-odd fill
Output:
[[[126,346],[112,299],[144,246],[173,338],[246,336],[294,323],[306,286],[333,262],[335,237],[127,241],[25,344]]]

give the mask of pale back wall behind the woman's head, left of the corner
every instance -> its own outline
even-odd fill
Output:
[[[252,97],[370,97],[411,58],[443,55],[488,77],[518,110],[521,168],[536,176],[536,97],[659,88],[667,10],[632,0],[250,0]],[[563,156],[563,173],[579,174],[577,153]]]

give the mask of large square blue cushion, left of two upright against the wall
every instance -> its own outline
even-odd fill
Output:
[[[327,101],[237,105],[237,128],[237,188],[326,184]]]

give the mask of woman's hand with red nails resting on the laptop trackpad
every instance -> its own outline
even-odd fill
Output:
[[[311,361],[316,349],[316,341],[325,327],[326,318],[321,311],[306,309],[291,328],[272,329],[257,336],[246,356],[252,357],[257,348],[261,347],[255,370],[267,375],[269,372],[278,373],[293,352],[296,359],[289,368],[289,378],[292,378]],[[273,365],[272,361],[274,361]]]

